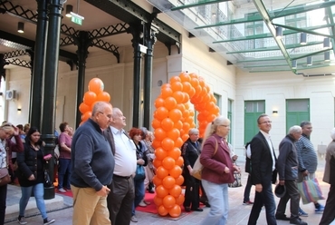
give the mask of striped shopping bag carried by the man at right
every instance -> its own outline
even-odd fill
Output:
[[[299,182],[298,190],[302,196],[302,203],[308,204],[319,200],[324,200],[319,182],[316,178]]]

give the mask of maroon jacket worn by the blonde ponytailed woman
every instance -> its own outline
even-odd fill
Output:
[[[215,152],[216,142],[218,147]],[[201,179],[218,184],[235,181],[233,175],[235,169],[230,158],[228,145],[222,142],[222,138],[217,134],[213,134],[206,139],[201,152],[200,162],[204,166]],[[229,173],[225,173],[225,167],[229,168]]]

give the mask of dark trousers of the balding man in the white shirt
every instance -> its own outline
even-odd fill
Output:
[[[133,179],[131,176],[121,178],[114,175],[108,187],[110,194],[107,197],[107,206],[110,210],[111,225],[129,225],[135,198]]]

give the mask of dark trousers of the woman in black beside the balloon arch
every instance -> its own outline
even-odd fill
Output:
[[[186,176],[186,190],[185,190],[185,201],[184,207],[191,207],[191,209],[196,210],[199,208],[200,198],[199,198],[199,188],[200,181],[193,176]]]

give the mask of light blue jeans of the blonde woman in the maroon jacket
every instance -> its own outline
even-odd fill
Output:
[[[229,210],[228,184],[217,184],[206,180],[201,182],[206,191],[208,202],[211,205],[208,215],[202,220],[201,224],[225,225],[226,220],[228,220]]]

